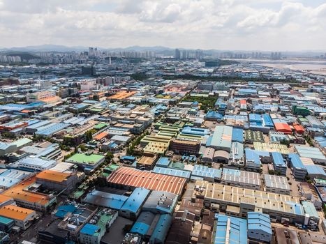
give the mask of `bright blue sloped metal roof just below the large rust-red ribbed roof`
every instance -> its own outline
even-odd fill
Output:
[[[149,195],[149,190],[146,188],[135,188],[127,201],[124,202],[124,205],[121,207],[121,210],[130,211],[132,213],[137,213],[139,208],[142,206],[143,202]]]

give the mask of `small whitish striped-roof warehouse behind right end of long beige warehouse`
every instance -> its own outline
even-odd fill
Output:
[[[290,195],[291,188],[290,185],[288,184],[288,179],[286,177],[264,174],[264,181],[265,181],[265,190],[267,192]]]

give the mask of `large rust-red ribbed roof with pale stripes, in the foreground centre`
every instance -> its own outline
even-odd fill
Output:
[[[129,167],[121,167],[110,175],[108,182],[117,185],[127,185],[134,188],[163,190],[165,192],[172,192],[181,195],[182,190],[184,190],[186,178],[156,174]]]

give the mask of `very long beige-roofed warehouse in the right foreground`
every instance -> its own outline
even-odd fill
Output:
[[[193,197],[203,197],[205,206],[218,204],[219,211],[226,211],[227,206],[235,206],[239,211],[238,215],[246,218],[248,212],[261,209],[271,220],[288,218],[290,222],[304,223],[304,210],[298,197],[207,181],[196,181],[195,185]]]

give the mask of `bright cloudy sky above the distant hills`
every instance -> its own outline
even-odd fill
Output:
[[[0,47],[326,49],[325,0],[0,0]]]

